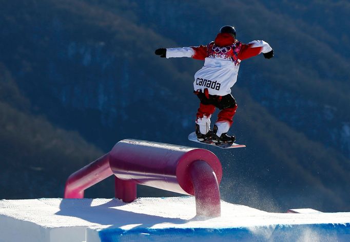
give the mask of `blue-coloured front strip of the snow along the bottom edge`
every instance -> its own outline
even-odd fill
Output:
[[[295,225],[258,228],[120,228],[91,231],[87,242],[95,241],[349,241],[346,225]],[[347,235],[346,235],[347,233]]]

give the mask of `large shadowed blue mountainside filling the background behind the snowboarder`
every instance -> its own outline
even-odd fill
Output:
[[[210,149],[223,163],[223,198],[268,211],[350,209],[347,2],[48,0],[3,1],[2,7],[4,117],[12,112],[42,122],[23,131],[23,122],[2,119],[3,127],[25,134],[1,136],[4,156],[11,154],[10,137],[45,147],[30,142],[38,132],[52,132],[47,139],[73,136],[63,143],[84,154],[76,166],[124,138],[193,146],[186,140],[199,103],[192,80],[203,62],[158,58],[154,49],[207,44],[230,24],[244,43],[267,41],[275,58],[241,64],[231,132],[247,148]],[[60,146],[54,159],[75,160],[68,147]],[[38,156],[49,159],[40,153],[28,159]],[[15,162],[25,157],[18,154]]]

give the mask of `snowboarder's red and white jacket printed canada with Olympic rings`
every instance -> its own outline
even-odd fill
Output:
[[[193,88],[202,91],[207,88],[210,95],[225,96],[231,93],[231,87],[237,81],[242,60],[272,50],[264,41],[242,44],[228,39],[228,35],[218,34],[216,41],[206,46],[168,48],[166,58],[191,57],[204,60],[204,66],[195,74]]]

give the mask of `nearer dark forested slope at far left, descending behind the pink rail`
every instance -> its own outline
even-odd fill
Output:
[[[31,115],[2,64],[0,73],[0,197],[63,196],[67,177],[103,153],[76,132]]]

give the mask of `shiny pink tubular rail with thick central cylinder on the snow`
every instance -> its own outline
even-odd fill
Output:
[[[208,150],[126,139],[106,155],[69,176],[65,198],[83,198],[84,190],[115,176],[115,197],[137,198],[137,184],[194,195],[198,216],[218,217],[221,163]]]

